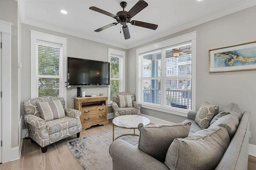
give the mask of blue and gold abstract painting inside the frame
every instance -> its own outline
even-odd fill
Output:
[[[214,67],[233,67],[256,64],[256,47],[214,53]]]

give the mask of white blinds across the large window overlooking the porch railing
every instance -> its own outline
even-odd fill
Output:
[[[140,101],[191,109],[192,43],[182,43],[139,55]]]

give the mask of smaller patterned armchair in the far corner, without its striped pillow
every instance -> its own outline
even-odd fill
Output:
[[[131,95],[132,106],[133,107],[118,107],[118,95]],[[135,101],[135,96],[133,93],[119,92],[112,95],[112,108],[114,110],[114,116],[118,117],[120,115],[140,115],[141,104]]]

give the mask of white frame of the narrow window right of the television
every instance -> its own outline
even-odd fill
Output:
[[[122,60],[123,60],[123,62],[119,62],[119,78],[111,78],[111,73],[109,73],[110,81],[111,80],[120,80],[119,91],[125,91],[125,55],[126,55],[125,51],[108,48],[108,62],[111,61],[111,56],[119,57],[119,58],[122,58]],[[120,71],[121,65],[123,68],[122,71]],[[111,63],[110,63],[110,67],[111,67]],[[122,75],[120,75],[120,73],[122,73]],[[108,106],[109,107],[112,106],[112,100],[110,99],[110,93],[111,92],[110,92],[110,84],[109,84],[109,87],[108,87]]]

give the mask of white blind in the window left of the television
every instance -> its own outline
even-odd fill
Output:
[[[60,96],[62,44],[36,40],[36,95]]]

